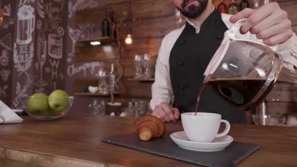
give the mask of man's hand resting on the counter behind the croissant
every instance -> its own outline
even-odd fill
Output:
[[[155,117],[161,119],[162,122],[175,122],[179,118],[179,110],[177,108],[173,108],[170,105],[161,102],[159,105],[155,107],[152,111],[152,114]]]

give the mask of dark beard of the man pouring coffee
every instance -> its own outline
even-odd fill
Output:
[[[205,10],[208,0],[197,0],[199,2],[199,6],[195,6],[194,4],[188,7],[189,11],[186,11],[186,5],[190,0],[184,0],[181,4],[181,8],[176,8],[182,13],[185,17],[194,19],[201,15],[201,13]]]

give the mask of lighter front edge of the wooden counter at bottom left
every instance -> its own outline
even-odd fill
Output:
[[[0,146],[0,158],[42,167],[124,167],[6,146]]]

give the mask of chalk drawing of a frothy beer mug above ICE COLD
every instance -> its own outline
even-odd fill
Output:
[[[18,11],[17,43],[29,44],[32,41],[32,32],[35,27],[34,8],[30,5],[23,5]]]

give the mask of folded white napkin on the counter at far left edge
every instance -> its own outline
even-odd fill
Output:
[[[21,123],[23,119],[0,101],[0,124]]]

